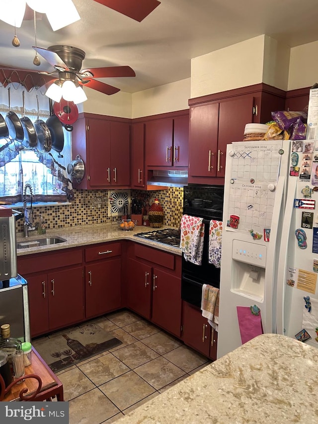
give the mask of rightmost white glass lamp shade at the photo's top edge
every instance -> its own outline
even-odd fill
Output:
[[[53,31],[64,28],[80,19],[79,12],[72,0],[55,1],[54,7],[47,10],[46,16]]]

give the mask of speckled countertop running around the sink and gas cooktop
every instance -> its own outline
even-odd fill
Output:
[[[160,230],[164,228],[171,228],[168,226],[162,226]],[[116,224],[92,224],[92,225],[79,225],[76,227],[64,227],[47,230],[46,234],[37,234],[36,231],[30,232],[30,236],[25,238],[22,233],[17,234],[16,241],[19,242],[31,242],[35,239],[44,239],[46,237],[61,237],[66,242],[58,243],[49,246],[37,246],[26,249],[17,249],[17,255],[22,256],[25,254],[34,254],[39,252],[51,252],[61,249],[69,249],[78,246],[92,245],[96,243],[111,242],[114,240],[132,240],[133,242],[140,243],[149,247],[153,247],[165,252],[177,254],[181,256],[179,248],[162,245],[157,242],[150,240],[141,239],[134,237],[135,234],[141,232],[148,232],[157,230],[156,228],[136,226],[131,231],[121,230],[117,223]]]

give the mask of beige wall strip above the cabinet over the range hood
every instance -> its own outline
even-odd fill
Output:
[[[133,93],[132,118],[187,109],[190,78]]]

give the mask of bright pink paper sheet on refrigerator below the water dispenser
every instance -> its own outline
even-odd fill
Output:
[[[253,315],[248,306],[237,306],[239,332],[242,344],[263,334],[262,319],[259,315]]]

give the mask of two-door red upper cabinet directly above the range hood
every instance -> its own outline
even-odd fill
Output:
[[[156,167],[187,167],[189,115],[162,117],[146,121],[146,165]]]

